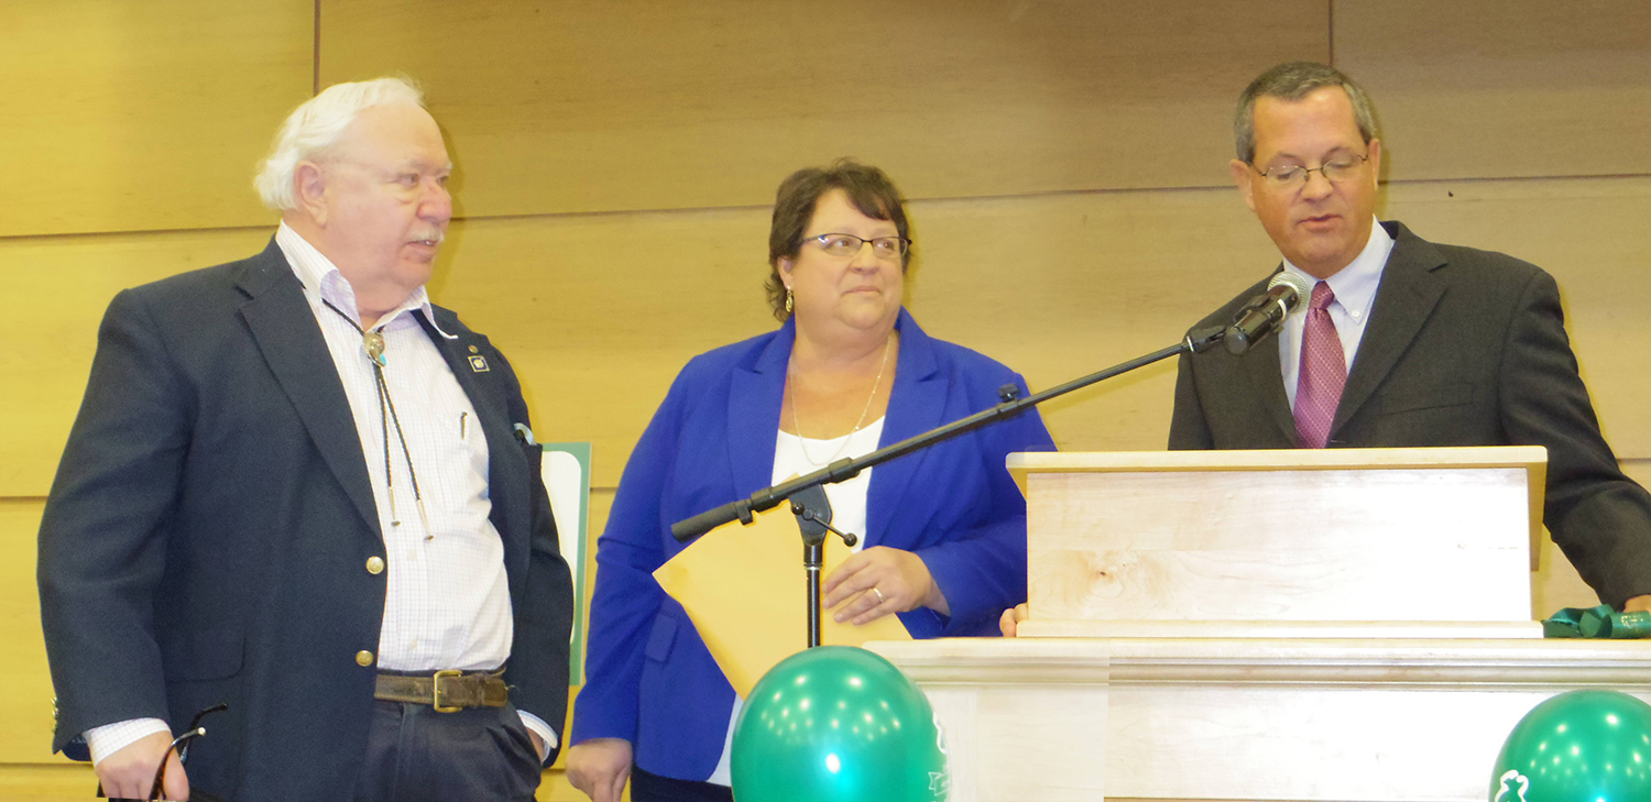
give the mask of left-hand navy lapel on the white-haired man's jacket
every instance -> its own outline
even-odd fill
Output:
[[[241,304],[241,318],[251,328],[269,371],[297,409],[315,451],[355,503],[355,512],[383,538],[350,399],[343,394],[343,381],[315,314],[304,300],[304,285],[274,238],[264,252],[248,262],[238,284],[249,297]]]

